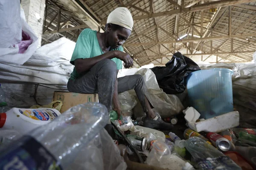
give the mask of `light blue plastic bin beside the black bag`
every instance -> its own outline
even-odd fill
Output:
[[[213,68],[195,71],[186,77],[190,105],[201,118],[233,111],[232,75],[230,69]]]

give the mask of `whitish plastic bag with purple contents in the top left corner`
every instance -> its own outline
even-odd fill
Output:
[[[20,0],[1,0],[0,16],[0,63],[23,64],[37,49],[38,37],[26,23]]]

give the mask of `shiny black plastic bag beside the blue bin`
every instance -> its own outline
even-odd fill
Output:
[[[166,63],[166,67],[154,67],[151,70],[156,75],[159,87],[166,94],[180,94],[186,89],[185,77],[190,72],[201,69],[192,59],[177,52]]]

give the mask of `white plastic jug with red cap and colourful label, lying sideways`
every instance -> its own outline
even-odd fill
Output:
[[[46,125],[60,115],[59,111],[52,108],[12,108],[6,113],[0,113],[0,130],[13,129],[26,134],[36,127]]]

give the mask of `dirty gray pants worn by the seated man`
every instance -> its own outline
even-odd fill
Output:
[[[140,74],[120,77],[118,93],[134,89],[143,111],[148,109],[145,104],[146,85]],[[112,110],[114,84],[116,81],[116,63],[111,59],[102,59],[81,77],[70,80],[67,89],[70,92],[81,94],[99,94],[99,102]]]

